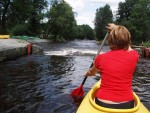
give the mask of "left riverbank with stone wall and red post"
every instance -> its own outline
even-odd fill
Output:
[[[41,54],[43,49],[36,43],[49,42],[46,39],[21,40],[0,39],[0,62],[29,54]],[[29,46],[30,45],[30,46]],[[30,52],[30,53],[29,53]]]

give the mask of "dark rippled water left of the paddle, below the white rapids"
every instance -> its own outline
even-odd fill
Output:
[[[79,103],[70,92],[82,81],[87,64],[80,65],[90,60],[42,55],[1,63],[0,112],[74,113]]]

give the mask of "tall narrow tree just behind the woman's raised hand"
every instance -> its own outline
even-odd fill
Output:
[[[110,9],[110,6],[106,4],[104,7],[101,7],[96,10],[95,16],[95,33],[98,40],[102,40],[106,34],[106,25],[112,22],[113,14]]]

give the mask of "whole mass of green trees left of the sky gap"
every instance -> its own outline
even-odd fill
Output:
[[[94,39],[90,26],[78,26],[64,0],[1,0],[0,34],[50,37],[51,40]]]

